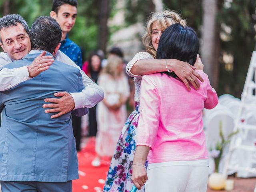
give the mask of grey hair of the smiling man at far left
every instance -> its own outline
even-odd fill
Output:
[[[11,15],[6,15],[3,16],[0,19],[0,31],[2,30],[2,28],[8,28],[11,26],[17,26],[17,23],[20,23],[23,25],[25,31],[27,32],[27,34],[29,35],[29,27],[27,22],[24,20],[24,18],[18,14],[11,14]],[[0,42],[2,43],[2,37],[0,35]]]

